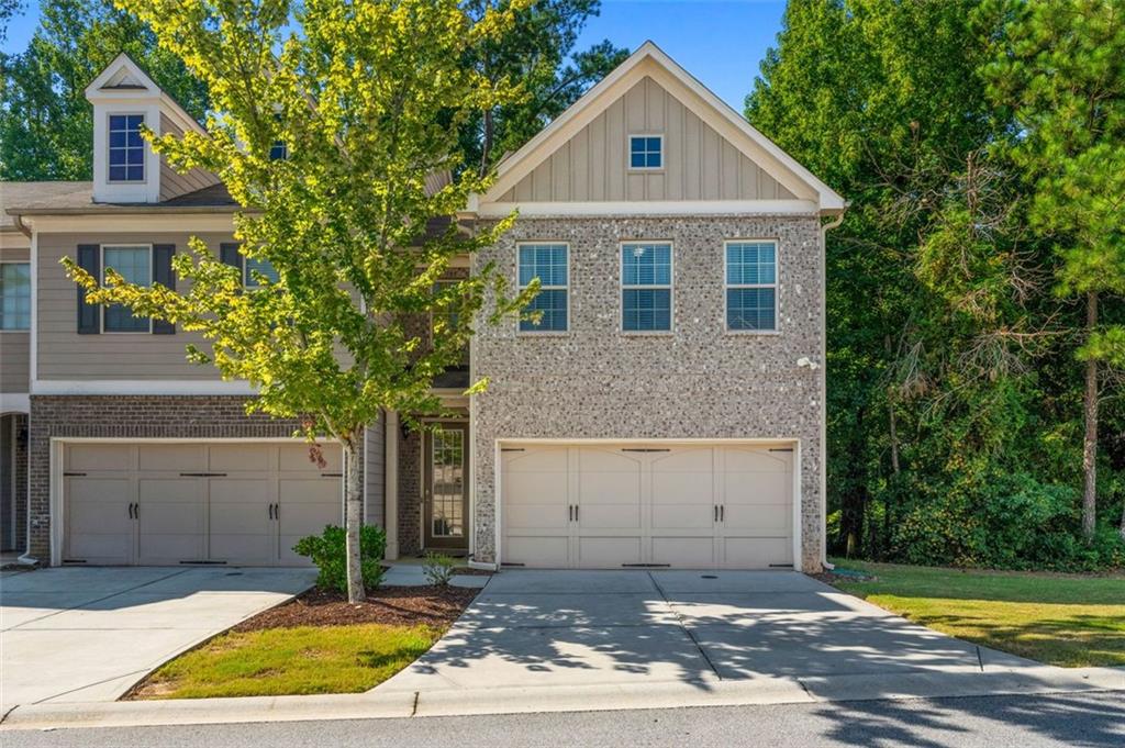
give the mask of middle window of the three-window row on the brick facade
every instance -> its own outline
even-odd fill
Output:
[[[672,330],[672,245],[621,245],[621,330]]]

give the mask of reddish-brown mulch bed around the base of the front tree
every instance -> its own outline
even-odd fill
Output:
[[[341,593],[314,588],[243,621],[232,631],[357,623],[444,628],[457,620],[478,592],[466,587],[380,587],[368,592],[366,602],[352,605]]]

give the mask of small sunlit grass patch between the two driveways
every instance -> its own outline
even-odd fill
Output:
[[[359,693],[413,663],[441,636],[376,623],[225,633],[168,663],[140,699]]]

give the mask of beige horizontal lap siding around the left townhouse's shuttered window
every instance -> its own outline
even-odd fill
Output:
[[[78,334],[78,287],[66,277],[60,260],[75,258],[79,244],[174,244],[186,252],[189,234],[114,232],[99,234],[39,234],[37,377],[38,379],[218,379],[210,366],[189,363],[184,346],[209,346],[195,333],[177,330],[174,335],[147,333]],[[228,234],[201,234],[217,251]],[[177,290],[184,290],[178,280]]]

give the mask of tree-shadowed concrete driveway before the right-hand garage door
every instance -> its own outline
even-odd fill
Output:
[[[430,652],[376,691],[705,688],[1027,665],[794,571],[505,570]]]

